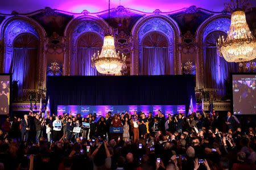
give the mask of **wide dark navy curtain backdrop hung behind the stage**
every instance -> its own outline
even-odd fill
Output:
[[[48,76],[48,96],[54,114],[58,105],[185,105],[187,113],[195,76]]]

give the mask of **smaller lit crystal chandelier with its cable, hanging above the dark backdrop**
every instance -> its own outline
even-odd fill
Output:
[[[109,18],[110,18],[110,0],[109,0]],[[110,32],[110,28],[108,30]],[[110,35],[104,36],[104,43],[101,54],[93,54],[92,66],[96,67],[101,74],[121,74],[122,67],[125,66],[126,57],[115,52],[114,37]]]

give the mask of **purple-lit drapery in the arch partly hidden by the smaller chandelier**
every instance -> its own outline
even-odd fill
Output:
[[[92,67],[92,56],[101,52],[103,42],[101,37],[94,32],[88,32],[77,40],[77,55],[74,58],[74,75],[101,75]]]

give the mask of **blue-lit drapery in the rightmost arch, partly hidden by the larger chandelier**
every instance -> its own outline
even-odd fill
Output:
[[[225,95],[225,80],[230,79],[230,73],[238,71],[238,65],[227,62],[223,57],[217,55],[216,41],[219,36],[226,37],[224,32],[216,31],[210,33],[204,42],[204,88],[218,88],[220,95]]]

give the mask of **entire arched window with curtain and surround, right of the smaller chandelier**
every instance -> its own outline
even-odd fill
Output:
[[[132,74],[174,74],[174,53],[177,29],[172,20],[164,16],[149,16],[133,28],[135,48]]]

